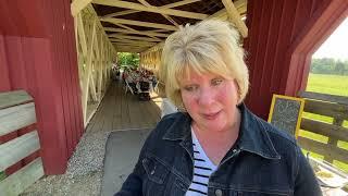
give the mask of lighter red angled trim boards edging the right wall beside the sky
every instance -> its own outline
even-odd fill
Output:
[[[282,83],[282,88],[287,95],[296,95],[298,90],[304,89],[303,83],[307,82],[310,66],[309,57],[348,15],[348,3],[345,0],[322,1],[318,4],[320,5],[315,5],[316,10],[289,46],[288,53],[293,56],[286,61],[291,69],[288,73],[291,77]],[[300,79],[301,83],[296,79]]]

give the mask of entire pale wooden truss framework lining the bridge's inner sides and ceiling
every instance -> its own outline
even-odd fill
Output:
[[[112,62],[116,62],[116,51],[140,53],[140,65],[154,72],[160,66],[164,39],[178,29],[173,16],[207,20],[221,19],[229,21],[247,37],[248,29],[241,21],[247,10],[247,0],[222,0],[225,9],[207,15],[202,13],[179,10],[200,0],[182,0],[162,7],[154,7],[146,0],[139,3],[125,0],[74,0],[71,4],[75,20],[76,48],[78,51],[78,70],[82,86],[82,103],[85,125],[89,121],[96,107],[100,103],[110,81]],[[99,17],[91,3],[126,9]],[[137,12],[152,12],[161,14],[170,24],[121,19]],[[101,22],[114,24],[117,27],[103,27]],[[130,27],[133,26],[133,27]],[[136,26],[141,27],[135,28]],[[145,27],[145,28],[144,28]],[[153,28],[149,30],[149,28]],[[105,34],[109,32],[110,34]]]

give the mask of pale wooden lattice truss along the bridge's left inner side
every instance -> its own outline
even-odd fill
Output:
[[[86,125],[110,83],[111,68],[116,61],[116,51],[90,4],[78,12],[74,20],[84,124]]]

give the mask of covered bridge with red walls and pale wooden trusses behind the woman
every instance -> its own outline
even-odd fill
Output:
[[[312,53],[348,14],[346,0],[2,0],[0,91],[26,90],[45,174],[61,174],[101,102],[117,52],[140,53],[158,70],[165,38],[179,25],[221,19],[243,37],[250,71],[247,106],[266,119],[273,94],[306,87]],[[113,107],[113,106],[110,106]]]

